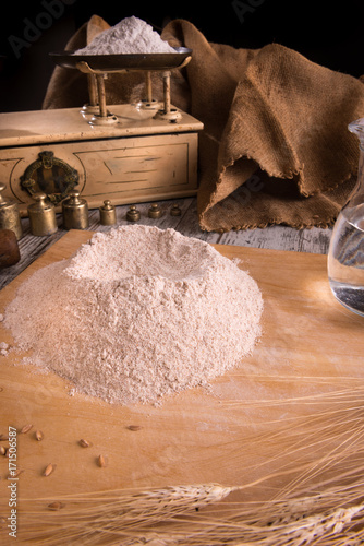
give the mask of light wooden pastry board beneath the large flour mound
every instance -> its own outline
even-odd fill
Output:
[[[1,292],[0,312],[36,269],[70,257],[92,235],[72,230],[56,242]],[[240,266],[258,283],[265,308],[254,353],[214,381],[210,391],[193,389],[158,407],[114,406],[71,396],[72,385],[58,376],[14,366],[20,357],[11,353],[0,356],[0,434],[7,435],[9,426],[20,430],[33,425],[29,432],[17,434],[20,503],[22,498],[57,500],[71,492],[123,487],[251,483],[282,466],[281,456],[272,460],[277,446],[267,442],[262,450],[255,438],[284,419],[294,423],[315,412],[315,404],[307,403],[312,396],[363,381],[364,319],[335,300],[325,256],[216,248],[241,260]],[[1,341],[11,345],[11,334],[0,328]],[[41,441],[35,439],[37,429],[44,432]],[[82,448],[81,438],[92,447]],[[99,454],[107,458],[106,467],[97,465]],[[310,449],[300,454],[301,462],[312,456]],[[49,463],[57,468],[45,477]],[[3,518],[9,511],[8,474],[8,459],[0,456]],[[269,487],[252,487],[244,495],[265,498]],[[1,541],[8,544],[7,530],[0,531]]]

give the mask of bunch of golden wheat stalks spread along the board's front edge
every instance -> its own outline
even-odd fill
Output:
[[[252,438],[258,447],[279,449],[269,461],[252,465],[264,471],[274,462],[278,470],[259,472],[251,483],[72,495],[57,499],[62,508],[56,512],[48,508],[54,499],[24,500],[19,514],[24,539],[39,546],[364,544],[363,394],[364,388],[355,387],[312,396],[308,415],[286,419],[272,432]],[[308,404],[310,397],[304,402]],[[302,458],[316,450],[311,460]],[[287,458],[295,462],[288,464]],[[254,492],[260,485],[271,488],[270,497],[247,501],[245,491]]]

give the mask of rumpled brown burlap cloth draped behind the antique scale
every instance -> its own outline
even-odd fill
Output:
[[[92,17],[66,49],[83,47],[107,26]],[[348,123],[364,117],[363,83],[280,45],[250,50],[208,43],[184,20],[169,23],[162,37],[193,49],[187,67],[173,71],[171,94],[205,126],[202,229],[331,225],[356,178],[359,143]],[[133,102],[143,94],[144,76],[113,74],[106,90],[109,104]],[[158,75],[154,95],[162,97]],[[87,99],[85,75],[56,68],[44,107]]]

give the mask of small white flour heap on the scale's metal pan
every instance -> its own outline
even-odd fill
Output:
[[[75,55],[175,54],[168,41],[138,17],[125,17],[98,34]]]

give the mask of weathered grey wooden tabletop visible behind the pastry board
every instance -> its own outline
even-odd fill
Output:
[[[171,216],[170,209],[178,203],[181,216]],[[312,252],[326,254],[331,237],[331,229],[310,228],[294,229],[287,226],[271,226],[264,229],[246,229],[241,232],[228,232],[223,234],[203,232],[198,225],[197,206],[195,198],[179,199],[173,201],[161,201],[162,215],[158,219],[148,217],[150,203],[139,203],[141,212],[138,224],[154,225],[160,229],[173,228],[187,237],[196,237],[210,244],[236,245],[251,248],[266,248],[275,250],[290,250],[298,252]],[[117,207],[117,225],[130,224],[125,219],[129,205]],[[34,260],[41,256],[47,248],[59,240],[65,230],[62,229],[62,217],[58,215],[59,230],[48,237],[35,237],[31,235],[29,222],[22,219],[24,237],[20,241],[21,261],[11,268],[0,271],[0,289],[7,286]],[[110,227],[101,226],[98,210],[89,211],[89,230],[108,232]]]

